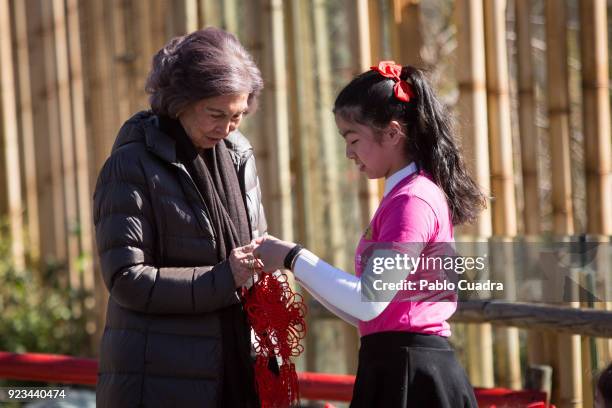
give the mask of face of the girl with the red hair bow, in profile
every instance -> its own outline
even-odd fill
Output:
[[[346,157],[369,179],[389,177],[408,164],[403,152],[404,138],[392,134],[392,129],[377,137],[371,127],[348,121],[341,115],[336,115],[336,125],[346,143]]]

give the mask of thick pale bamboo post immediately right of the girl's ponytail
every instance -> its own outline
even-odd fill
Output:
[[[458,0],[457,81],[459,86],[459,136],[463,154],[476,183],[489,194],[487,95],[484,62],[484,20],[480,0]],[[490,209],[474,225],[458,229],[471,240],[491,235]],[[493,338],[490,324],[467,325],[467,371],[474,385],[493,387]]]

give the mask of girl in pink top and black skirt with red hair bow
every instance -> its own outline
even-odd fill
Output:
[[[375,292],[370,278],[380,271],[372,274],[373,256],[362,259],[372,246],[388,259],[402,252],[431,253],[438,244],[452,243],[453,225],[473,221],[484,207],[449,118],[423,73],[393,61],[353,79],[338,95],[334,114],[347,157],[368,178],[385,178],[380,206],[356,249],[356,275],[274,237],[258,241],[254,255],[265,270],[292,270],[316,299],[359,328],[351,407],[476,407],[447,341],[447,319],[457,306],[454,293],[443,301],[427,294],[397,301],[396,290],[386,290],[385,301],[366,296],[366,289]],[[389,249],[396,244],[404,251]],[[399,270],[410,276],[420,271]]]

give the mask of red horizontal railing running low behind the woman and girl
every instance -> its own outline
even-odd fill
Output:
[[[0,352],[0,379],[42,381],[62,384],[96,385],[98,361],[56,354]],[[300,372],[300,395],[304,399],[350,401],[355,377],[352,375]],[[512,391],[500,388],[475,389],[480,407],[544,407],[546,395],[539,391]]]

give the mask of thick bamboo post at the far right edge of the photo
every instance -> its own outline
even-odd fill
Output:
[[[605,0],[580,2],[580,52],[582,66],[582,123],[584,127],[584,163],[587,193],[587,233],[612,235],[612,146],[610,137],[610,100],[608,79],[608,34]],[[601,240],[601,238],[599,238]],[[606,245],[606,244],[603,244]],[[609,245],[609,244],[608,244]],[[608,264],[609,266],[609,264]],[[603,269],[600,269],[603,270]],[[609,269],[608,269],[609,270]],[[595,307],[612,310],[612,299],[603,282],[603,302]],[[598,291],[599,292],[599,291]],[[600,292],[600,293],[601,293]],[[602,363],[612,360],[612,340],[596,339],[595,351]],[[586,365],[583,361],[583,366]],[[583,367],[583,372],[585,372]],[[589,381],[587,381],[587,379]],[[585,376],[583,394],[592,389],[592,375]]]

